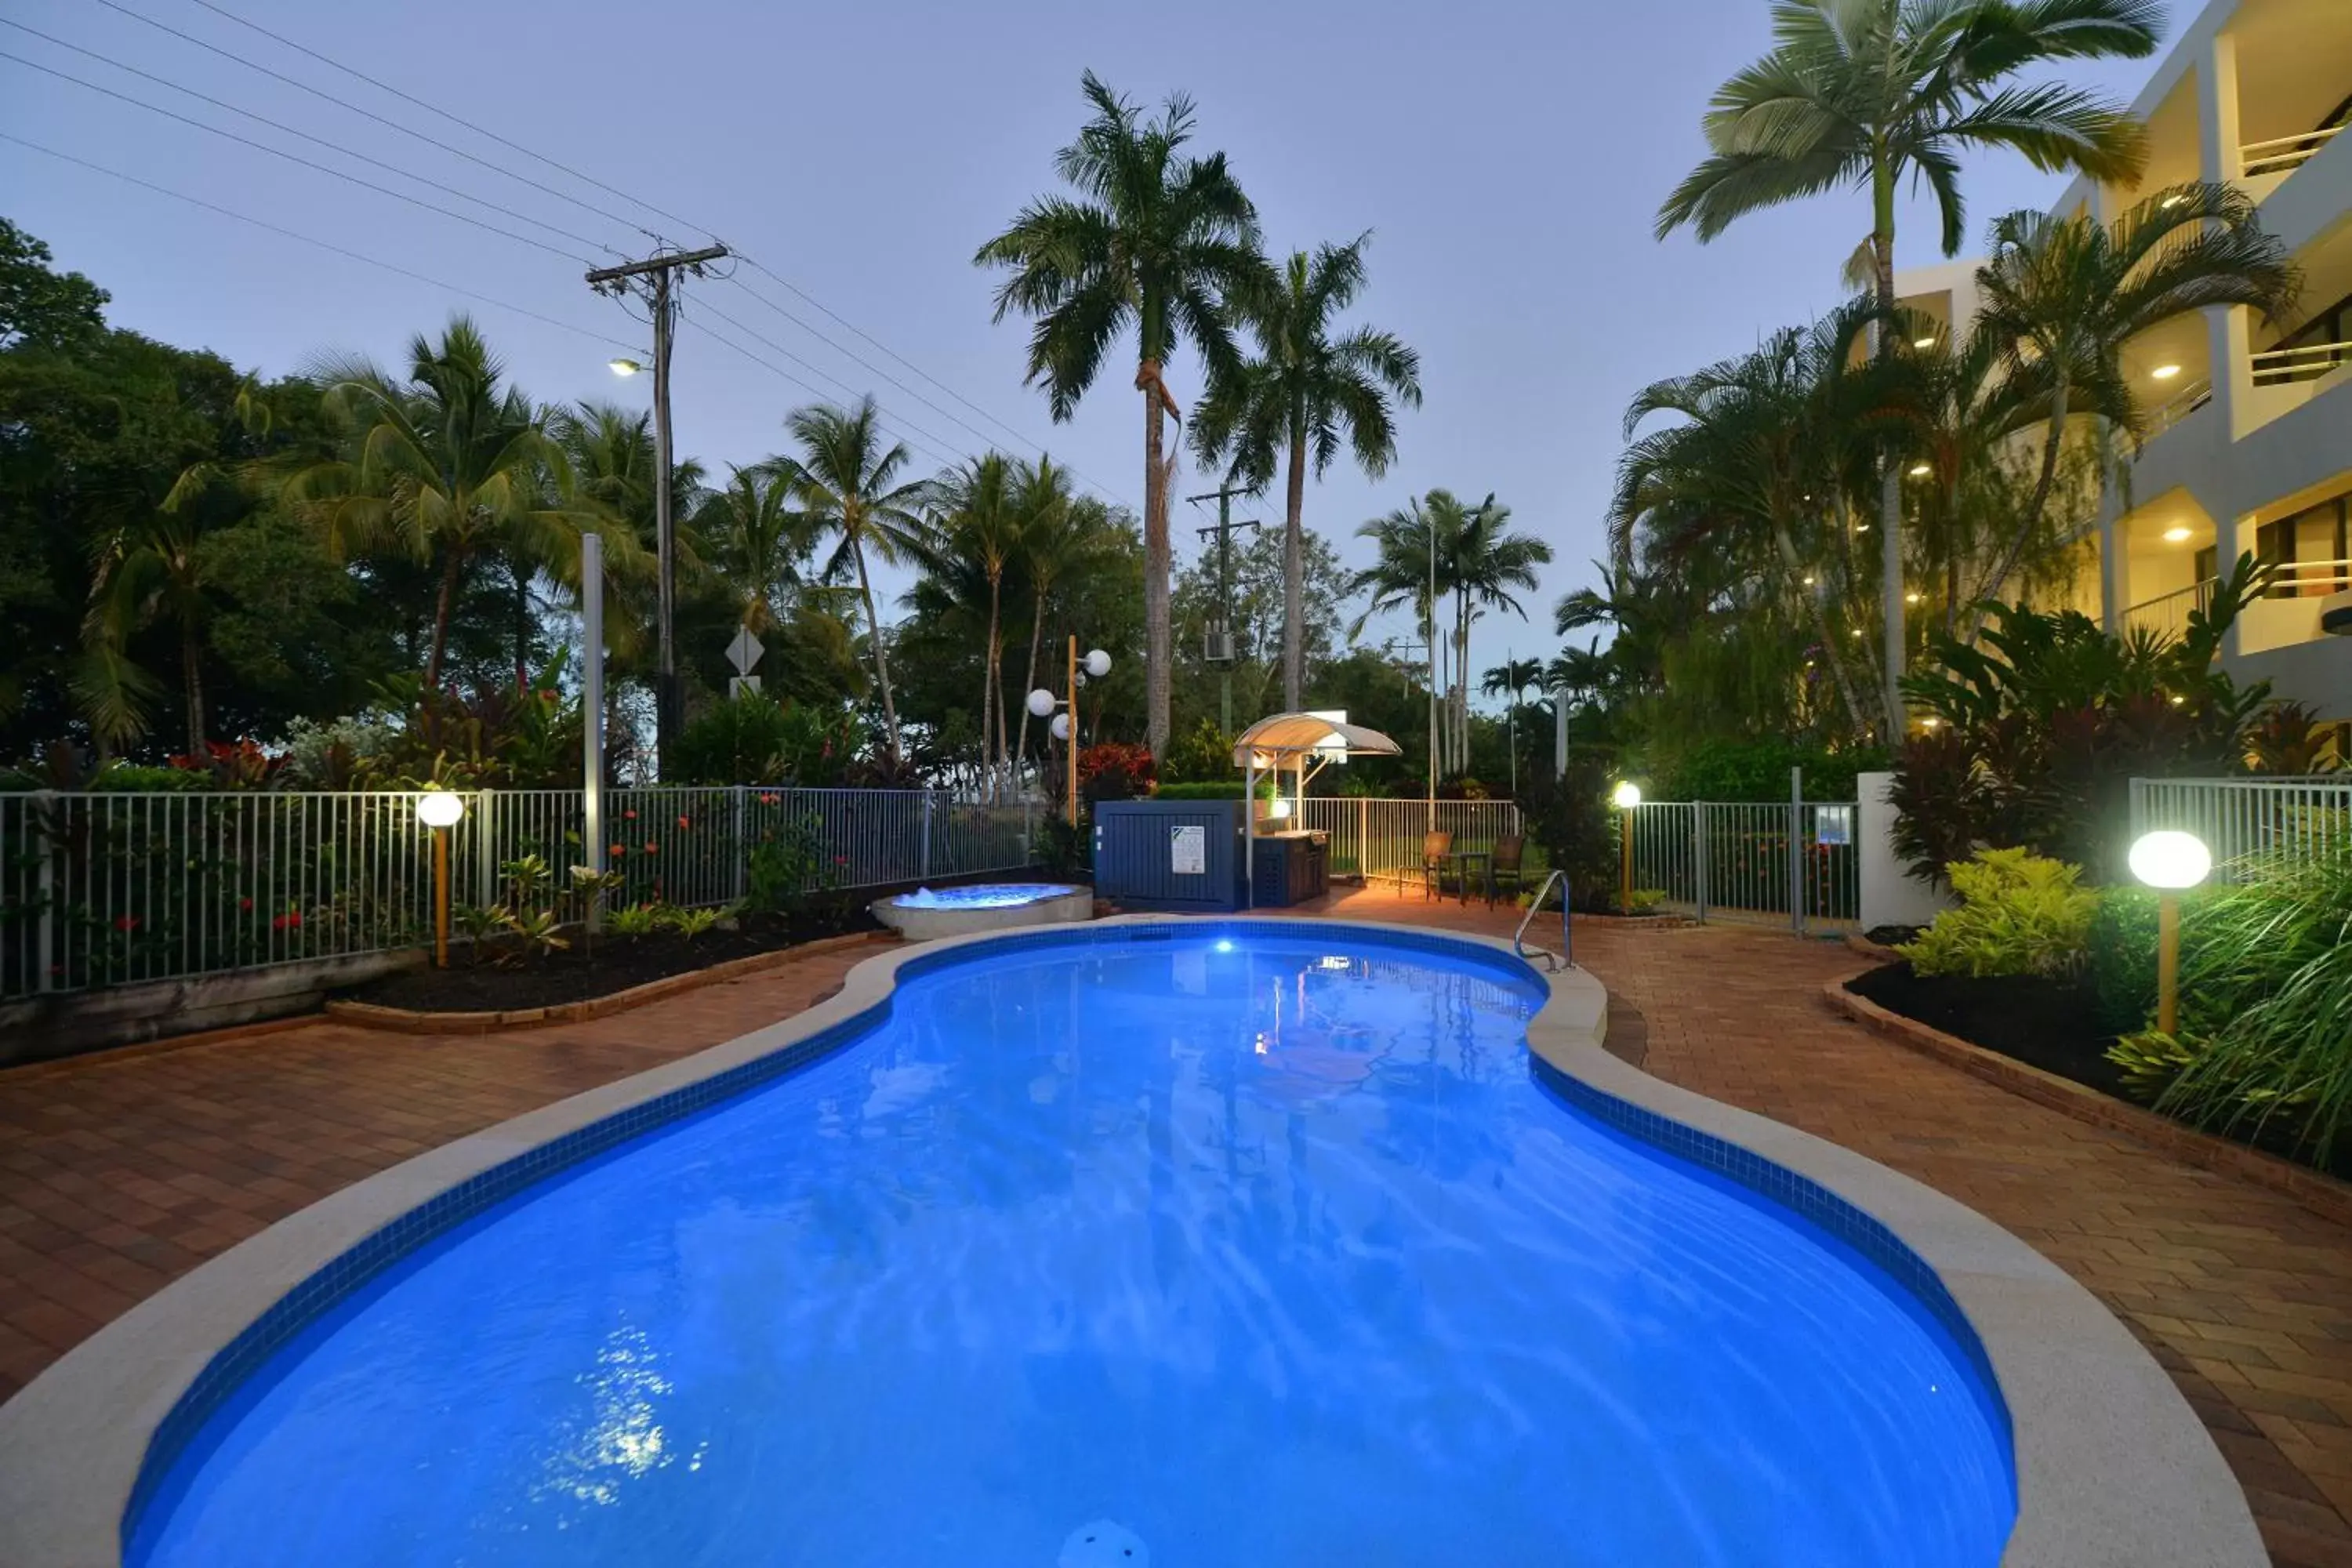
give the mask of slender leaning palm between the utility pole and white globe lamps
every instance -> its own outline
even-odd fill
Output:
[[[875,689],[882,693],[882,733],[889,738],[891,766],[906,759],[898,745],[898,708],[889,693],[889,651],[884,649],[882,618],[875,614],[873,576],[866,557],[873,552],[882,562],[898,562],[922,543],[924,522],[917,508],[929,494],[922,480],[894,484],[908,465],[903,444],[882,447],[882,428],[875,421],[875,400],[868,395],[856,409],[811,404],[793,409],[783,428],[800,442],[797,494],[809,512],[816,534],[837,534],[840,543],[826,562],[826,576],[847,562],[858,574],[858,599],[866,604],[866,635],[875,658]]]

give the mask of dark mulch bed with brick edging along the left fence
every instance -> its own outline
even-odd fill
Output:
[[[412,969],[343,992],[353,1001],[397,1006],[419,1013],[506,1013],[527,1006],[588,1001],[612,992],[666,980],[689,969],[708,969],[727,959],[797,947],[849,931],[880,931],[866,903],[795,910],[790,914],[743,914],[734,931],[706,931],[691,943],[675,931],[656,936],[600,936],[590,950],[581,933],[572,947],[527,961],[485,957],[468,964],[449,952],[449,969]]]

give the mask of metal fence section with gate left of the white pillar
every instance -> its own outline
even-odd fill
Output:
[[[1625,813],[1618,811],[1618,832]],[[1860,919],[1853,802],[1642,802],[1632,809],[1632,886],[1696,919]]]

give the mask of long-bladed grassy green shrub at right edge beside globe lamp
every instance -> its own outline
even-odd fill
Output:
[[[2157,1110],[2326,1166],[2352,1133],[2352,846],[2241,877],[2183,900],[2178,1032],[2129,1034],[2110,1058]]]

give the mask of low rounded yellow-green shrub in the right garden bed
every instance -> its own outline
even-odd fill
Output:
[[[1959,907],[1896,947],[1922,976],[2070,976],[2082,969],[2098,893],[2082,867],[2023,849],[1980,849],[1945,867]]]

